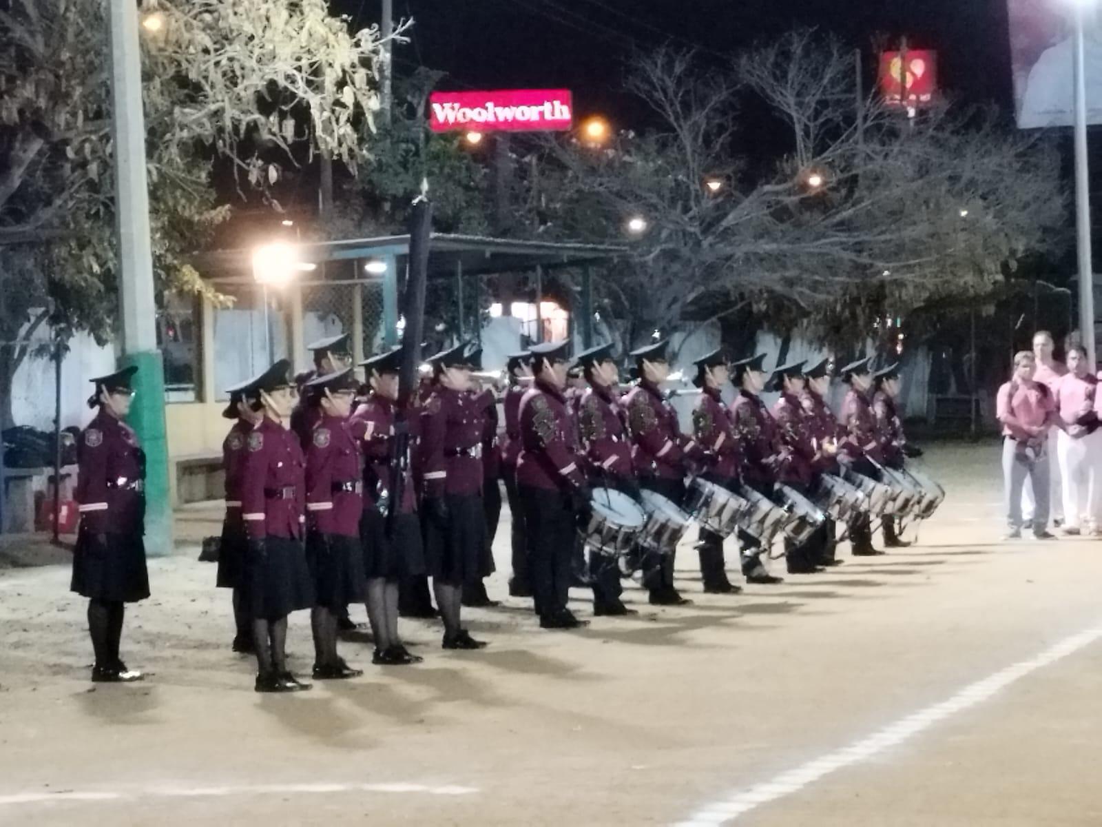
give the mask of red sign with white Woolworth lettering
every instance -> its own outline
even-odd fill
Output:
[[[434,92],[429,97],[429,126],[434,132],[570,129],[573,115],[570,89]]]

